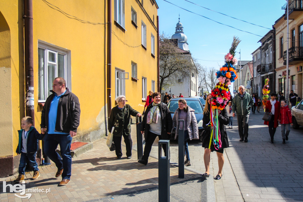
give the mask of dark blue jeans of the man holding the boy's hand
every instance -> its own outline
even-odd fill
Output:
[[[58,170],[63,169],[62,180],[70,180],[72,175],[72,137],[68,134],[48,134],[44,136],[44,152],[56,164]],[[61,156],[56,152],[60,145]]]

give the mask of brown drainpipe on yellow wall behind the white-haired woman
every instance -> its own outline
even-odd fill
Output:
[[[107,1],[107,115],[112,110],[112,0]]]

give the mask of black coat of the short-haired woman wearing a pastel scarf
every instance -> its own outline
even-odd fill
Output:
[[[145,116],[142,119],[142,125],[141,125],[141,131],[144,131],[144,138],[147,140],[147,136],[149,133],[149,124],[147,124],[147,114],[149,110],[154,107],[152,103],[148,105],[145,111]],[[172,118],[171,118],[171,113],[167,107],[167,105],[163,102],[160,103],[159,105],[159,110],[161,113],[161,137],[163,140],[168,140],[171,138],[171,135],[167,134],[170,133],[172,130]]]

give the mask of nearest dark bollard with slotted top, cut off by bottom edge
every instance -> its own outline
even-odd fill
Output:
[[[162,145],[165,145],[166,156],[162,156]],[[159,179],[159,202],[169,201],[169,140],[159,140],[158,142],[158,179]]]

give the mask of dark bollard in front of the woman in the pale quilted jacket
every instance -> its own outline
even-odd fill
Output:
[[[180,123],[182,123],[182,126],[184,126],[184,120],[178,120],[179,121],[179,128],[178,130],[178,149],[179,149],[179,173],[178,178],[184,178],[184,127],[183,129],[180,129]]]

